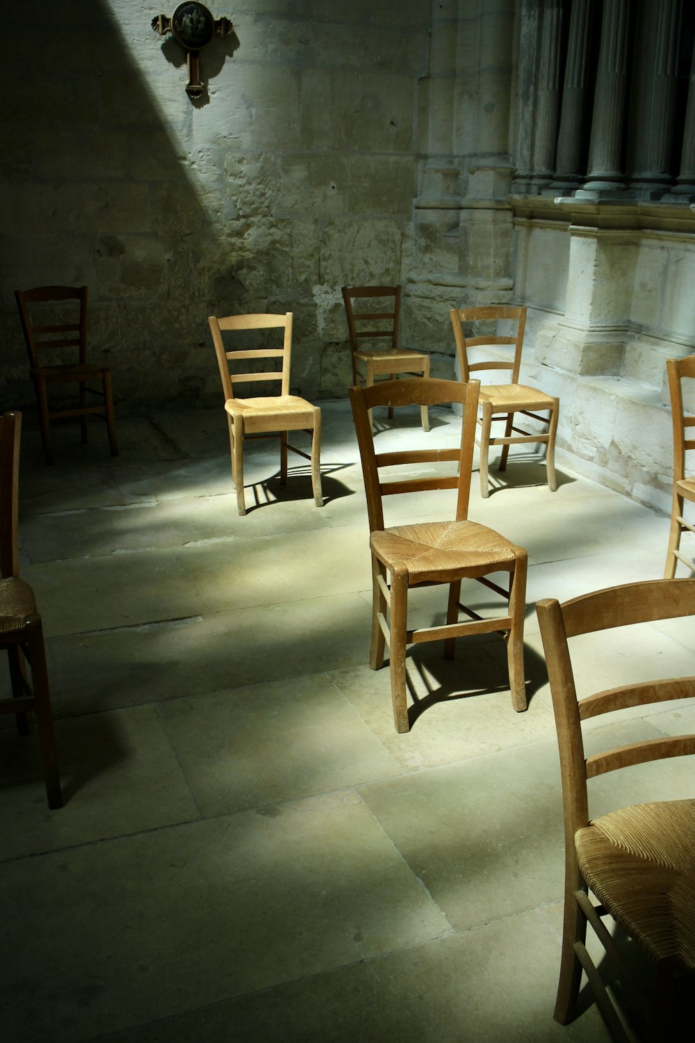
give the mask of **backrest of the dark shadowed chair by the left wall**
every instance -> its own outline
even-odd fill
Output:
[[[42,364],[40,351],[49,348],[76,348],[79,361],[86,361],[85,286],[38,286],[16,290],[15,298],[32,368]]]

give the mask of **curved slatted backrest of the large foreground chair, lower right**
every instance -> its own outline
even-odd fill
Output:
[[[695,677],[634,682],[577,699],[568,638],[655,620],[695,615],[695,579],[649,580],[606,587],[564,604],[537,605],[555,715],[565,806],[565,835],[573,848],[577,829],[589,825],[587,779],[632,765],[695,753],[695,735],[649,738],[587,757],[581,722],[647,703],[690,699]],[[617,644],[620,635],[616,635]],[[585,650],[586,656],[586,650]]]

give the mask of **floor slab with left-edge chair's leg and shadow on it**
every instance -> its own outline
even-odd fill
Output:
[[[55,742],[65,803],[51,811],[35,729],[0,731],[3,860],[199,817],[154,706],[57,721]]]

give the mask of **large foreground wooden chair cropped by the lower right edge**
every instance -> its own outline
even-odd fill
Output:
[[[550,679],[565,808],[565,922],[554,1017],[562,1024],[574,1017],[584,968],[612,1034],[628,1039],[587,952],[588,921],[617,968],[623,990],[626,994],[631,990],[632,1002],[649,1025],[645,1038],[688,1039],[695,985],[695,800],[638,804],[591,819],[587,779],[695,753],[695,735],[654,737],[587,756],[581,726],[601,713],[692,698],[695,677],[625,684],[577,701],[568,638],[628,624],[692,616],[695,580],[629,583],[563,605],[546,599],[538,603],[537,611]],[[619,634],[615,644],[619,659],[624,655]],[[592,744],[600,735],[600,730],[594,730]],[[590,900],[589,889],[598,903]],[[651,1021],[646,1020],[651,1017],[649,1011],[640,1004],[643,990],[631,983],[624,953],[602,922],[605,913],[655,965],[663,1002]],[[684,1001],[687,1030],[679,1022],[686,1011]]]

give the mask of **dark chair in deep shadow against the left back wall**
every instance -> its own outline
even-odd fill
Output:
[[[53,463],[50,420],[59,416],[79,416],[83,442],[88,440],[89,417],[102,416],[106,421],[111,456],[118,456],[110,371],[105,366],[91,365],[86,361],[86,287],[39,286],[33,290],[16,290],[15,297],[29,356],[46,462]],[[72,307],[69,304],[71,301]],[[71,311],[70,315],[66,314],[66,302]],[[41,324],[34,324],[32,315],[41,319]],[[48,358],[49,351],[59,350],[59,358],[65,355],[66,348],[76,353],[77,361],[54,362],[50,365],[44,365],[40,361],[40,357]],[[55,354],[53,358],[56,358]],[[101,384],[101,388],[90,386],[97,382]],[[49,384],[78,384],[79,406],[69,409],[49,408]],[[93,403],[94,396],[99,402],[89,405],[88,395],[93,396]]]

